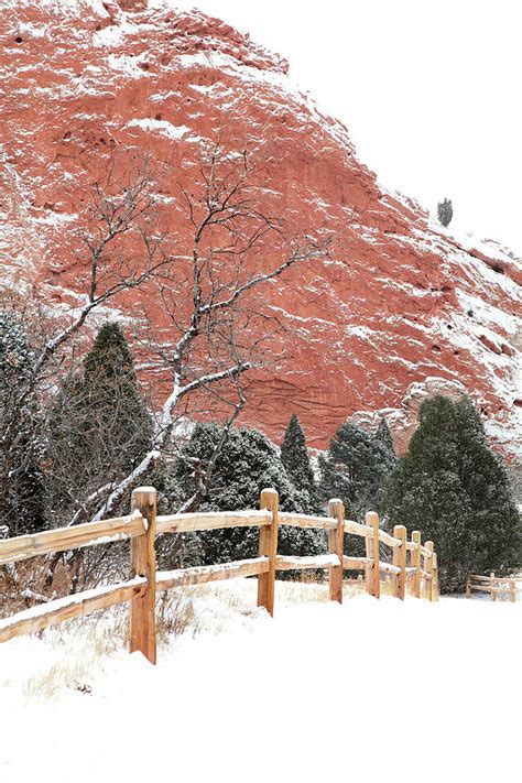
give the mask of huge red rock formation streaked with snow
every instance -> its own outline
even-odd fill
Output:
[[[165,218],[183,231],[177,180],[192,182],[220,129],[230,149],[261,146],[262,208],[338,236],[330,260],[263,293],[289,330],[252,378],[243,421],[276,441],[296,412],[324,447],[349,414],[399,406],[412,383],[438,377],[437,389],[464,384],[498,439],[520,443],[520,262],[383,192],[285,61],[219,20],[145,0],[19,0],[1,30],[2,278],[37,281],[70,306],[72,228],[118,151],[168,167]]]

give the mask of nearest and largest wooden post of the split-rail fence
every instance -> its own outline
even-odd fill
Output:
[[[138,487],[132,492],[131,511],[143,516],[146,531],[131,541],[132,576],[146,578],[146,590],[141,598],[131,601],[130,651],[140,651],[151,663],[156,662],[156,490],[154,487]]]

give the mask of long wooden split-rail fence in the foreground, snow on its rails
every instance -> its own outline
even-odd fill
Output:
[[[345,569],[363,570],[367,591],[380,597],[381,573],[391,574],[394,595],[404,599],[406,581],[416,598],[438,598],[437,555],[433,542],[421,544],[421,533],[414,531],[406,540],[406,529],[396,525],[393,535],[381,530],[379,516],[370,511],[366,524],[345,520],[340,500],[330,500],[328,516],[279,511],[274,489],[261,492],[261,508],[252,511],[184,513],[156,516],[156,490],[140,487],[132,492],[131,513],[99,522],[59,528],[33,535],[0,541],[0,566],[15,564],[29,557],[76,550],[93,544],[129,539],[131,575],[128,581],[85,590],[74,596],[51,600],[42,606],[0,620],[0,642],[81,615],[130,601],[130,650],[142,652],[151,663],[156,661],[155,598],[156,592],[186,585],[258,577],[258,606],[273,616],[275,572],[327,568],[329,598],[342,602]],[[279,525],[315,528],[327,531],[328,554],[311,557],[278,555]],[[232,563],[219,563],[195,568],[156,572],[154,541],[157,534],[216,530],[222,528],[259,528],[259,556]],[[366,556],[345,555],[345,534],[365,539]],[[380,558],[380,547],[392,550],[392,563]],[[410,555],[410,557],[409,557]]]

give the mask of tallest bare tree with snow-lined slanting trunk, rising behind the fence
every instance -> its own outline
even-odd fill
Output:
[[[227,154],[219,145],[214,148],[200,177],[197,197],[182,188],[192,228],[189,251],[176,254],[168,273],[155,280],[168,319],[167,334],[156,340],[156,355],[171,387],[153,448],[100,503],[94,520],[112,513],[168,452],[174,427],[195,398],[210,395],[216,404],[232,404],[230,426],[244,404],[240,379],[261,366],[260,346],[267,339],[262,328],[267,316],[252,303],[251,293],[291,267],[328,252],[330,238],[312,232],[292,237],[280,219],[259,208],[259,185],[247,151]],[[274,250],[280,259],[267,269],[267,254]],[[233,395],[236,402],[230,403]],[[207,491],[211,461],[184,509],[194,508]],[[105,488],[99,496],[106,496]]]

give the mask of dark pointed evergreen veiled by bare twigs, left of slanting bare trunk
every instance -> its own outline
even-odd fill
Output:
[[[51,434],[53,504],[63,521],[100,486],[123,478],[151,447],[152,418],[118,324],[100,328],[83,372],[63,383]]]

